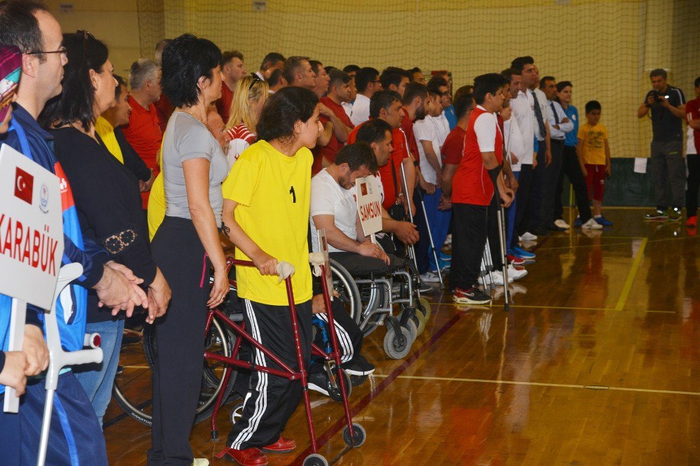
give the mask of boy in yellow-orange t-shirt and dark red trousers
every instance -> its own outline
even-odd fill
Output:
[[[581,164],[581,171],[586,178],[588,198],[593,199],[594,220],[603,227],[611,227],[612,222],[603,217],[603,194],[605,178],[610,176],[610,146],[608,145],[608,129],[599,122],[601,120],[601,104],[591,100],[586,104],[586,119],[578,129],[578,146],[576,155]]]

